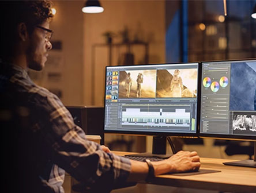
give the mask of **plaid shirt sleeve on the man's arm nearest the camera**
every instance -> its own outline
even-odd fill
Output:
[[[106,153],[99,144],[86,140],[84,131],[74,124],[57,96],[49,92],[43,100],[40,99],[43,121],[39,127],[46,130],[44,138],[52,148],[53,162],[80,182],[77,188],[111,190],[115,184],[125,183],[130,160]]]

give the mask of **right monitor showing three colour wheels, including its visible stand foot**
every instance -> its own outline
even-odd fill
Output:
[[[201,84],[199,137],[256,141],[256,59],[204,61]]]

